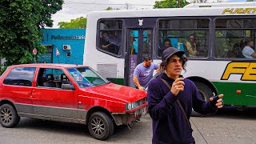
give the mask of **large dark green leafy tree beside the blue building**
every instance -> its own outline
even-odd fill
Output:
[[[46,52],[41,29],[53,26],[51,14],[62,10],[63,0],[0,0],[0,57],[6,66],[29,63],[32,50]]]

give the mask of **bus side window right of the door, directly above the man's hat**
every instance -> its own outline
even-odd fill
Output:
[[[209,19],[172,19],[158,22],[158,57],[172,46],[189,58],[208,56]]]

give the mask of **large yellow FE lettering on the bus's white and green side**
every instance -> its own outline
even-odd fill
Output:
[[[230,74],[242,74],[242,81],[256,81],[256,62],[230,62],[222,75],[222,80],[228,80]]]

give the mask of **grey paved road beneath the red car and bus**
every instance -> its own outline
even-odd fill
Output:
[[[256,107],[244,111],[225,108],[207,117],[192,117],[193,135],[198,144],[256,143]],[[15,128],[0,126],[0,144],[10,143],[151,143],[149,115],[134,122],[131,130],[119,126],[105,142],[90,137],[86,126],[22,118]]]

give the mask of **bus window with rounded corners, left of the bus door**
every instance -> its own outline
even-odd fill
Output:
[[[101,20],[98,22],[98,50],[107,54],[122,54],[122,21]]]

